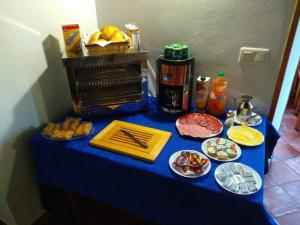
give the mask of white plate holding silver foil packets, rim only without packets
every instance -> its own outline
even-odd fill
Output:
[[[229,166],[229,165],[231,165],[231,164],[233,164],[233,165],[241,165],[241,166],[243,167],[244,170],[249,171],[249,172],[252,173],[252,175],[253,175],[253,177],[254,177],[254,180],[256,181],[256,184],[255,184],[255,187],[257,188],[256,191],[253,191],[253,192],[250,192],[250,191],[249,191],[248,193],[243,193],[243,192],[241,192],[241,191],[239,190],[238,192],[233,192],[233,191],[231,191],[229,188],[227,188],[227,187],[225,187],[225,186],[223,185],[223,183],[217,178],[217,174],[221,173],[222,170],[223,170],[225,167],[227,167],[227,166]],[[241,177],[241,175],[236,175],[236,176],[240,176],[240,177]],[[217,183],[218,183],[222,188],[224,188],[226,191],[229,191],[229,192],[234,193],[234,194],[237,194],[237,195],[250,195],[250,194],[254,194],[254,193],[258,192],[258,191],[260,190],[261,186],[262,186],[262,180],[261,180],[261,178],[260,178],[260,175],[259,175],[254,169],[252,169],[251,167],[249,167],[249,166],[247,166],[247,165],[245,165],[245,164],[242,164],[242,163],[228,162],[228,163],[223,163],[223,164],[219,165],[219,166],[216,168],[216,170],[215,170],[215,179],[216,179]],[[242,180],[243,180],[243,179],[242,179]]]

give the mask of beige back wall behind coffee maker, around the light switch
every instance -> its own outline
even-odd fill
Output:
[[[268,113],[295,0],[96,0],[98,24],[134,22],[150,62],[170,42],[189,44],[196,74],[224,70],[232,95],[247,93]],[[267,65],[239,65],[242,46],[271,49]],[[154,82],[151,83],[154,86]]]

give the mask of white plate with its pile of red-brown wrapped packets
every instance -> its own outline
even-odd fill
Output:
[[[171,155],[169,166],[179,176],[197,178],[209,172],[211,163],[201,152],[181,150]]]

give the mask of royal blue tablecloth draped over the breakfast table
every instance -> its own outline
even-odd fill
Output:
[[[95,132],[86,139],[69,142],[47,140],[36,134],[30,141],[37,182],[98,199],[159,224],[247,225],[275,224],[263,206],[263,188],[250,196],[224,191],[214,179],[220,164],[197,179],[182,178],[168,165],[178,150],[201,149],[203,140],[183,138],[176,118],[157,112],[150,99],[146,113],[93,120]],[[139,161],[89,146],[89,141],[112,120],[118,119],[172,132],[155,163]],[[266,120],[256,128],[265,134]],[[226,137],[226,128],[220,135]],[[254,168],[263,179],[265,145],[242,147],[238,162]]]

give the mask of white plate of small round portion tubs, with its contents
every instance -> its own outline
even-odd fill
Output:
[[[240,146],[226,138],[207,139],[201,148],[205,155],[217,161],[234,161],[242,155]]]

